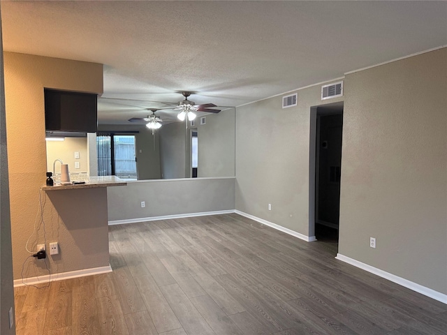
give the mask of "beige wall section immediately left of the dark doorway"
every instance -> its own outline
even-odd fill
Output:
[[[340,100],[322,102],[318,85],[299,90],[295,107],[282,96],[237,107],[237,210],[309,236],[310,109]]]

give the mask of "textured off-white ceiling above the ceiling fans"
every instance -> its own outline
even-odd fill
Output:
[[[104,64],[99,121],[237,106],[447,45],[445,1],[1,1],[3,49]],[[143,100],[143,101],[138,101]]]

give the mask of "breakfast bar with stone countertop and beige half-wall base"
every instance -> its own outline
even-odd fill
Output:
[[[48,241],[57,241],[51,255],[51,278],[74,278],[112,271],[109,255],[107,188],[126,186],[115,176],[90,177],[85,184],[42,186]],[[57,192],[56,192],[57,191]],[[45,205],[46,202],[46,205]],[[51,202],[52,206],[48,206]]]

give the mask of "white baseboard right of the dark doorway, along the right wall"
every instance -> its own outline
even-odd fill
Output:
[[[410,290],[420,293],[421,295],[426,295],[427,297],[430,297],[437,301],[441,301],[444,304],[447,304],[447,295],[444,295],[444,293],[432,290],[431,288],[426,288],[423,285],[420,285],[418,283],[413,283],[412,281],[409,281],[405,278],[395,276],[394,274],[390,274],[389,272],[383,271],[381,269],[377,269],[376,267],[372,267],[371,265],[367,265],[365,263],[359,262],[358,260],[354,260],[353,258],[349,258],[345,255],[340,254],[340,253],[337,253],[337,257],[335,257],[335,258],[337,260],[341,260],[342,262],[346,262],[350,265],[353,265],[354,267],[358,267],[365,271],[371,272],[372,274],[376,274],[379,277],[388,279],[388,281],[393,281],[393,283],[402,285],[405,288],[409,288]]]

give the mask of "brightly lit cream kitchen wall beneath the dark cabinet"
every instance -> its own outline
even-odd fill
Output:
[[[88,172],[87,137],[65,137],[64,141],[47,141],[47,171],[52,172],[54,160],[59,158],[68,164],[68,171],[72,173]],[[75,151],[79,152],[79,159],[75,158]],[[79,162],[79,169],[75,168]],[[56,163],[56,173],[60,174],[60,163]]]

